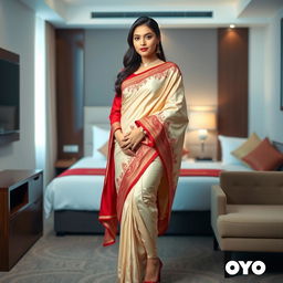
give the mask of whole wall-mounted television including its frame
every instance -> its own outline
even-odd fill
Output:
[[[0,145],[20,139],[20,56],[0,48]]]

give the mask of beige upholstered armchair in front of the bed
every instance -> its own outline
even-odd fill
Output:
[[[213,248],[283,252],[283,171],[227,171],[211,190]],[[227,275],[227,274],[226,274]]]

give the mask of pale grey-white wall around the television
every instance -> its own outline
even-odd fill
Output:
[[[34,13],[0,0],[0,46],[20,55],[20,140],[0,147],[0,169],[34,169]]]

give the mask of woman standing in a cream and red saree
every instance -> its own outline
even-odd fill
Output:
[[[166,62],[158,24],[140,17],[115,83],[99,221],[104,245],[120,221],[118,282],[159,282],[156,240],[169,222],[180,168],[187,107],[181,73]]]

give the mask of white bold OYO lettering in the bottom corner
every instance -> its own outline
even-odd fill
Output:
[[[235,275],[240,270],[242,270],[243,275],[248,275],[250,268],[255,275],[263,274],[266,269],[262,261],[229,261],[226,264],[226,271],[230,275]]]

